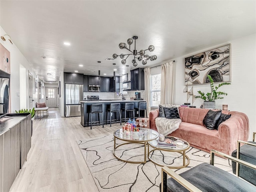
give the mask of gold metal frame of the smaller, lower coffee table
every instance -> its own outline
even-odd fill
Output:
[[[185,168],[185,167],[187,167],[187,166],[189,165],[189,163],[190,163],[190,159],[189,159],[189,157],[186,155],[186,150],[188,150],[188,149],[190,148],[190,144],[189,144],[187,141],[185,141],[185,140],[182,140],[182,139],[180,139],[180,138],[178,138],[178,139],[181,140],[181,141],[183,141],[183,142],[186,142],[188,146],[185,147],[185,148],[181,148],[181,149],[172,148],[172,147],[170,147],[170,148],[163,148],[163,147],[155,146],[155,145],[151,144],[150,142],[148,142],[148,159],[149,159],[152,163],[154,163],[154,164],[156,164],[156,165],[158,165],[158,166],[163,167],[163,166],[167,166],[167,165],[166,165],[166,164],[160,164],[160,163],[158,163],[158,162],[152,160],[152,158],[150,158],[150,153],[152,153],[152,152],[155,151],[155,150],[167,151],[167,152],[178,152],[178,153],[180,153],[180,154],[183,155],[183,164],[182,164],[181,166],[167,166],[167,167],[168,167],[168,168],[171,168],[171,169],[180,169],[180,168]],[[153,149],[152,149],[152,150],[149,150],[149,147],[152,147]],[[187,159],[187,163],[186,163],[186,159]]]

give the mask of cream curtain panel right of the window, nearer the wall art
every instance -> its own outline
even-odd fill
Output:
[[[160,104],[172,104],[173,102],[173,62],[161,65],[161,100]]]

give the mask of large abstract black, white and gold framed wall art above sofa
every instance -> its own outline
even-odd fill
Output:
[[[230,44],[185,58],[185,86],[230,82]]]

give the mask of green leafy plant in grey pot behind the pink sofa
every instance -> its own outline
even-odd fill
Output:
[[[210,75],[207,75],[207,78],[210,81],[211,92],[204,94],[204,92],[198,91],[200,94],[199,96],[195,96],[195,98],[200,98],[204,100],[204,108],[215,108],[215,100],[216,99],[223,99],[222,96],[227,95],[227,93],[222,91],[217,91],[223,85],[229,85],[230,83],[223,82],[220,83],[218,86],[214,87],[214,81]]]

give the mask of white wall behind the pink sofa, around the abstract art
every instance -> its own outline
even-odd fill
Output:
[[[209,47],[216,48],[225,44],[231,44],[230,63],[231,63],[231,85],[224,85],[220,91],[228,93],[224,99],[216,100],[216,108],[222,109],[222,104],[228,104],[228,110],[244,112],[250,122],[250,136],[252,140],[252,132],[256,132],[256,34],[245,36],[223,44]],[[183,93],[184,83],[184,58],[206,50],[198,50],[188,55],[175,58],[174,68],[176,71],[174,102],[176,104],[184,104],[187,101],[186,93]],[[151,70],[154,70],[152,68]],[[218,83],[216,84],[218,85]],[[209,84],[195,85],[194,94],[198,95],[198,90],[202,92],[210,92]],[[192,98],[188,100],[192,104]],[[203,100],[197,99],[194,106],[200,107]]]

